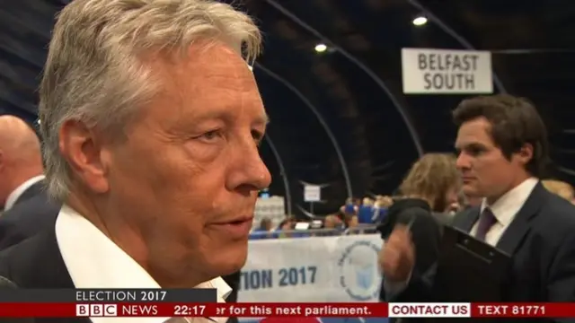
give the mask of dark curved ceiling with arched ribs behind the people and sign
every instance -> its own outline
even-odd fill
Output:
[[[33,122],[49,31],[66,1],[0,7],[0,114]],[[316,206],[391,193],[422,152],[453,150],[449,113],[464,96],[402,92],[401,48],[492,51],[496,92],[535,102],[551,130],[554,176],[575,171],[575,1],[245,0],[265,51],[254,68],[270,118],[262,147],[272,194],[304,205],[302,181],[328,184]],[[420,27],[411,21],[425,14]],[[314,46],[330,48],[317,54]],[[287,180],[287,181],[286,181]]]

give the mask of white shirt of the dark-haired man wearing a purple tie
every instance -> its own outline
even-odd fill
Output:
[[[485,242],[489,243],[491,246],[497,245],[503,232],[507,230],[509,224],[513,219],[515,219],[515,215],[517,215],[519,210],[521,210],[521,207],[523,207],[538,182],[539,179],[535,178],[524,180],[521,184],[517,185],[517,187],[512,188],[509,192],[501,196],[497,201],[495,201],[495,203],[493,203],[493,205],[488,205],[487,199],[483,198],[481,212],[483,212],[485,207],[489,207],[491,208],[491,212],[495,216],[495,219],[497,219],[497,223],[494,223],[489,231],[487,231]],[[479,221],[473,224],[472,230],[469,234],[475,236],[478,224]],[[411,274],[409,277],[411,279]],[[390,282],[384,280],[385,292],[389,292],[391,294],[403,292],[405,287],[407,287],[407,284],[409,284],[410,279],[406,282]]]

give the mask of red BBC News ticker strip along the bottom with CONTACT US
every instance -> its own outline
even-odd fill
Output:
[[[1,318],[575,318],[575,303],[0,303]]]

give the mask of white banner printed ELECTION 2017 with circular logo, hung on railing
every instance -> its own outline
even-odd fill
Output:
[[[378,301],[378,234],[249,243],[238,301]]]

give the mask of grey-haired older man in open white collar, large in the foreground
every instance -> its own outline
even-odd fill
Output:
[[[271,180],[248,65],[260,50],[229,4],[66,4],[39,106],[48,192],[65,205],[50,230],[0,252],[0,275],[25,288],[213,288],[225,301],[221,276],[242,268]]]

